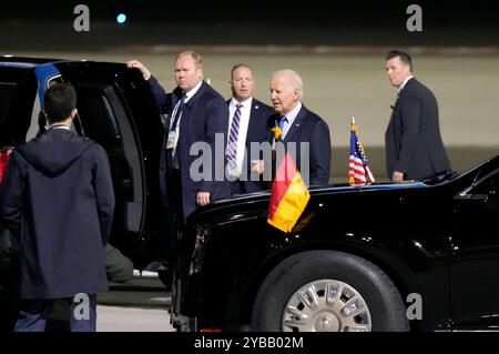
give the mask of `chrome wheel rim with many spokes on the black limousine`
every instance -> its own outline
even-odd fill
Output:
[[[370,332],[369,307],[350,285],[318,280],[298,289],[283,314],[284,332]]]

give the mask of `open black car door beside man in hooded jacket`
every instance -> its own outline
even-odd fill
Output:
[[[116,200],[110,241],[142,269],[154,259],[160,236],[160,112],[143,78],[125,64],[54,65],[77,90],[77,132],[108,152]]]

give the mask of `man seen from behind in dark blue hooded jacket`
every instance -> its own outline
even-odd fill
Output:
[[[71,85],[47,91],[49,130],[12,153],[0,192],[0,213],[20,249],[18,332],[44,331],[58,299],[70,304],[71,331],[95,331],[96,293],[108,289],[111,172],[103,148],[71,131],[75,107]]]

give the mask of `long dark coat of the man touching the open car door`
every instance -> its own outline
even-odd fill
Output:
[[[170,119],[173,108],[182,95],[176,88],[166,94],[159,82],[151,77],[149,80],[152,93],[162,113],[167,115],[165,124],[165,136],[170,129]],[[179,155],[179,165],[182,183],[182,211],[187,218],[196,209],[197,192],[210,192],[211,201],[230,196],[228,182],[225,180],[225,143],[228,130],[228,107],[225,100],[207,83],[203,82],[197,92],[184,104],[182,119],[180,121],[180,135],[175,154]],[[215,134],[218,142],[215,146]],[[203,142],[204,148],[211,151],[190,150],[194,143]],[[163,149],[165,143],[163,143]],[[162,152],[164,159],[165,151]],[[194,165],[193,165],[194,163]],[[191,176],[191,166],[201,172],[201,180]],[[200,168],[200,169],[198,169]],[[169,166],[166,170],[166,194],[169,191]]]

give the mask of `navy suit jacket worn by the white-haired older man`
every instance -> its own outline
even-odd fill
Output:
[[[274,139],[274,133],[272,128],[278,127],[279,114],[274,114],[268,120],[267,124],[267,136],[268,141],[272,142]],[[302,107],[296,115],[293,125],[286,133],[284,140],[286,151],[291,152],[295,159],[296,166],[302,173],[306,184],[309,185],[322,185],[329,182],[329,171],[330,171],[330,138],[329,128],[327,123],[317,114]],[[296,143],[296,151],[293,151],[292,145],[288,143]],[[302,145],[302,142],[307,142],[306,145]],[[309,159],[309,170],[306,171],[306,163],[302,166],[302,155],[308,156]],[[309,178],[307,178],[309,175]]]

